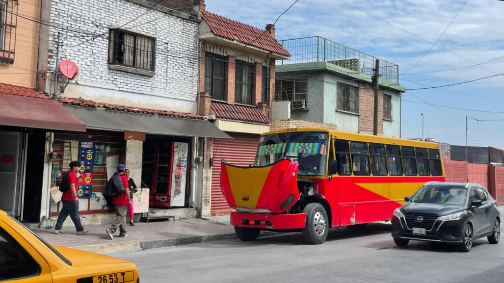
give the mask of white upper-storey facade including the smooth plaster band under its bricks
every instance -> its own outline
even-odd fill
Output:
[[[154,1],[48,2],[48,67],[55,67],[60,32],[59,59],[74,61],[81,72],[64,96],[134,107],[197,111],[198,17],[160,5],[148,11],[157,3]],[[155,39],[154,72],[145,76],[146,73],[135,74],[138,72],[134,69],[113,69],[108,62],[109,31],[114,28]]]

